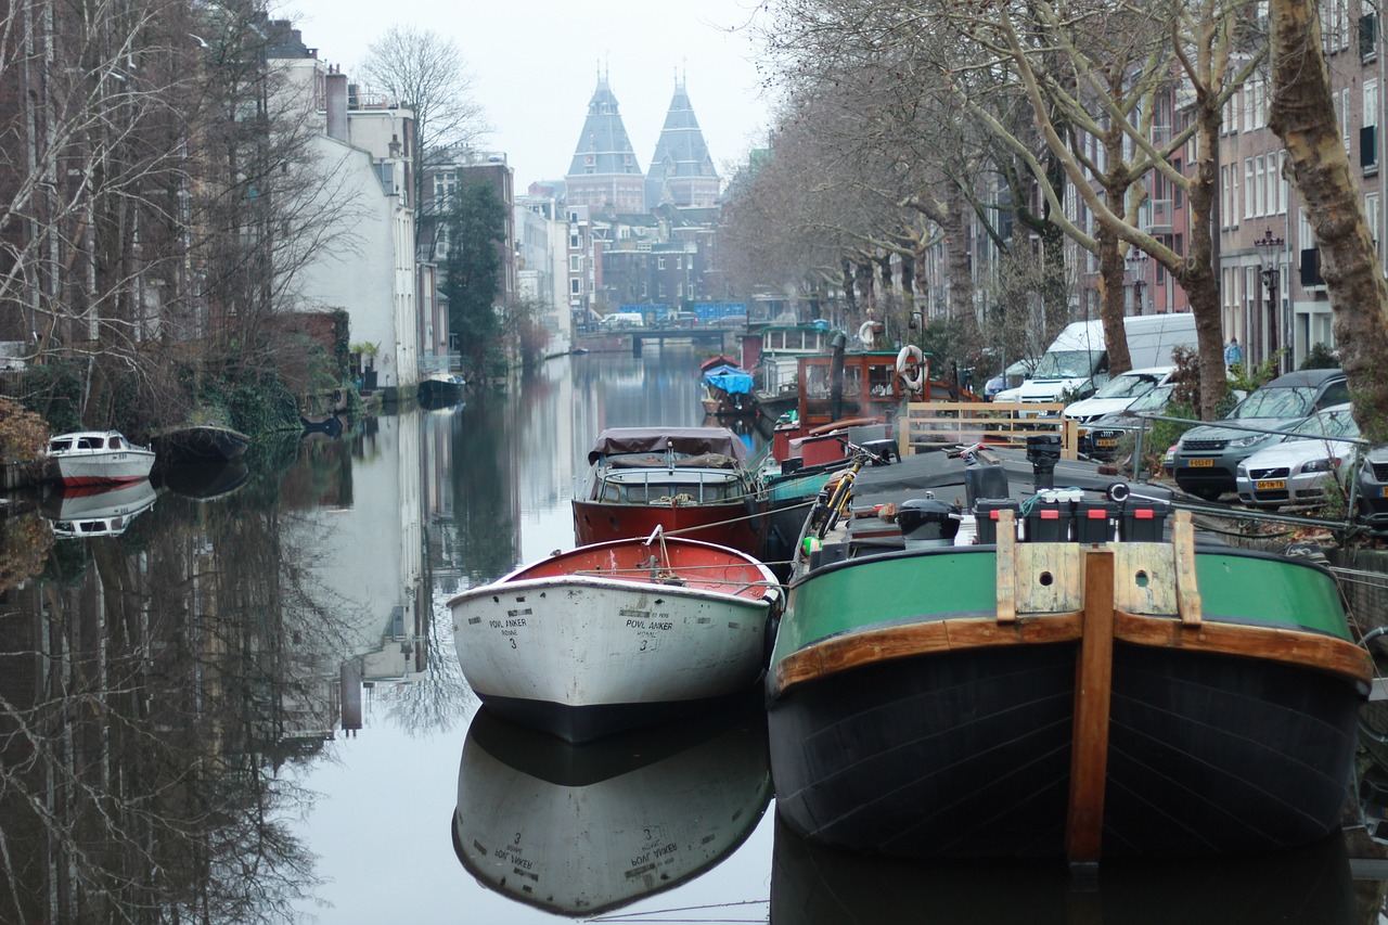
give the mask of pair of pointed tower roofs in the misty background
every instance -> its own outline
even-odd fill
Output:
[[[600,74],[565,185],[570,206],[590,206],[616,214],[645,214],[665,203],[712,207],[719,193],[718,171],[690,106],[684,81],[675,81],[675,96],[655,144],[651,172],[643,175],[622,124],[616,96],[607,74]]]

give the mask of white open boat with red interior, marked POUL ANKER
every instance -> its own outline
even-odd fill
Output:
[[[482,703],[587,742],[754,686],[779,603],[751,556],[657,531],[557,553],[448,608]]]

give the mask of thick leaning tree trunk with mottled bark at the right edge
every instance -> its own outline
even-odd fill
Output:
[[[1271,0],[1269,17],[1270,126],[1316,232],[1355,421],[1366,438],[1388,439],[1388,282],[1335,118],[1317,6]]]

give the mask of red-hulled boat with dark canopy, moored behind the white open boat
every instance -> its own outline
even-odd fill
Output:
[[[666,535],[762,556],[766,499],[747,444],[727,428],[609,428],[589,451],[587,490],[573,499],[575,540]]]

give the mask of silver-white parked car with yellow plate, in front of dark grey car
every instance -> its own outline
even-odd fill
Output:
[[[1302,436],[1253,453],[1238,464],[1238,500],[1255,507],[1319,501],[1327,479],[1344,479],[1355,471],[1359,425],[1351,406],[1337,404],[1298,424]]]

